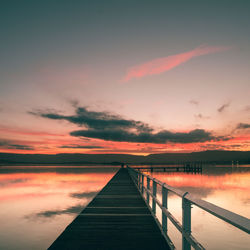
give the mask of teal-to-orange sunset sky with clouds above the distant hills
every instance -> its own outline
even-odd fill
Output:
[[[0,152],[250,150],[250,2],[3,1]]]

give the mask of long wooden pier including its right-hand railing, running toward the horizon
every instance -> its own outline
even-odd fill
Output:
[[[182,198],[181,222],[168,210],[169,192]],[[127,167],[119,169],[49,249],[175,249],[168,237],[168,224],[172,223],[181,233],[182,250],[202,250],[205,248],[191,232],[192,206],[250,233],[248,218]]]

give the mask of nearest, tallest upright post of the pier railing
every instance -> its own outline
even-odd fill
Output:
[[[182,228],[183,231],[190,235],[191,234],[191,202],[185,199],[186,192],[182,196]],[[190,243],[186,240],[184,234],[182,234],[182,250],[191,250]]]

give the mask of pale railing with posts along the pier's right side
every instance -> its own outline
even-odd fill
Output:
[[[181,232],[183,250],[190,250],[191,246],[194,249],[205,249],[191,234],[191,205],[195,205],[205,210],[206,212],[220,218],[221,220],[239,228],[240,230],[248,234],[250,233],[250,220],[248,218],[218,207],[210,202],[198,199],[188,192],[183,192],[177,188],[171,187],[166,183],[163,183],[153,178],[152,176],[144,174],[131,167],[128,167],[128,171],[135,184],[137,185],[139,191],[141,192],[143,198],[144,194],[146,194],[146,198],[144,199],[148,207],[151,209],[151,212],[154,215],[156,221],[161,225],[161,230],[163,231],[164,236],[166,237],[166,240],[168,241],[171,249],[175,249],[175,246],[171,239],[167,236],[167,218]],[[162,188],[162,201],[159,201],[156,196],[157,185],[160,185]],[[168,192],[172,192],[182,198],[182,223],[180,223],[168,210]],[[152,200],[151,205],[150,197]],[[162,212],[161,223],[156,217],[156,204],[160,207]]]

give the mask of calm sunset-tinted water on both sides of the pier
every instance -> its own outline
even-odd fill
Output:
[[[0,167],[0,249],[48,248],[117,170],[98,166]],[[202,175],[152,175],[249,218],[250,166],[205,168]],[[181,199],[170,195],[169,209],[181,221]],[[169,231],[180,248],[180,234],[170,223]],[[249,235],[195,207],[192,231],[207,249],[250,246]]]

